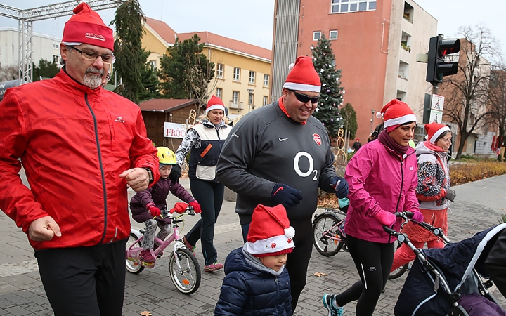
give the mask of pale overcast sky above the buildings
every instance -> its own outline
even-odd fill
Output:
[[[15,8],[33,8],[65,0],[0,0]],[[330,1],[330,0],[329,0]],[[381,0],[378,0],[381,1]],[[457,37],[458,27],[485,25],[506,52],[505,0],[415,0],[438,20],[438,33]],[[209,31],[264,48],[272,48],[274,0],[140,0],[145,15],[163,20],[174,31]],[[104,22],[113,9],[99,11]],[[353,13],[350,13],[353,14]],[[61,37],[67,17],[34,22],[34,32]],[[18,21],[0,17],[0,27],[18,27]],[[429,41],[429,39],[427,39]]]

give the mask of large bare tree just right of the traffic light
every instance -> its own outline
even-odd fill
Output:
[[[486,124],[488,87],[491,62],[500,55],[497,41],[483,25],[460,27],[458,74],[445,77],[441,94],[445,96],[443,116],[458,125],[460,143],[457,159],[462,156],[465,142],[474,131]],[[488,59],[487,59],[488,58]]]

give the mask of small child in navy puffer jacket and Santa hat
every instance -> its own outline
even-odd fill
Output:
[[[225,261],[223,286],[215,315],[292,315],[287,254],[295,230],[282,205],[257,206],[247,242]]]

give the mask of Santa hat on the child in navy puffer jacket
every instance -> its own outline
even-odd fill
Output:
[[[290,254],[295,246],[294,236],[295,230],[290,226],[283,205],[268,207],[259,204],[253,210],[245,249],[255,257]]]

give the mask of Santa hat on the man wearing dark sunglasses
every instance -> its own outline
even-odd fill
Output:
[[[290,65],[290,72],[283,88],[297,91],[320,92],[320,76],[314,69],[313,60],[308,56],[299,56],[295,64]]]

